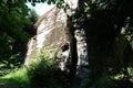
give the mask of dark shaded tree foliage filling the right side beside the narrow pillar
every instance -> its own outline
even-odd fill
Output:
[[[79,0],[72,25],[86,32],[90,80],[96,88],[113,88],[110,84],[121,88],[121,82],[131,82],[127,69],[133,68],[132,4],[126,0]],[[110,79],[111,76],[114,78]]]

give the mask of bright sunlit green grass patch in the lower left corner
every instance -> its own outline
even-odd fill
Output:
[[[27,75],[27,69],[20,68],[3,77],[0,77],[0,84],[19,86],[19,88],[28,88],[30,80]]]

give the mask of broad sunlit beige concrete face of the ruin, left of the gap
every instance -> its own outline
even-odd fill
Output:
[[[66,14],[57,7],[42,15],[37,23],[37,35],[30,38],[25,65],[30,59],[38,58],[40,50],[51,48],[51,51],[61,48],[65,43]]]

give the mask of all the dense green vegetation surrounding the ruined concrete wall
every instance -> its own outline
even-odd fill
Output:
[[[33,6],[37,2],[48,2],[63,9],[68,7],[63,4],[63,0],[29,1]],[[34,13],[29,15],[25,2],[0,1],[1,76],[22,65],[27,42],[35,34],[32,24],[37,18],[33,18]],[[71,16],[73,25],[76,26],[72,28],[83,29],[86,32],[91,69],[90,78],[84,79],[80,88],[133,87],[132,4],[132,0],[79,0],[76,13]],[[10,84],[20,84],[18,86],[22,88],[69,88],[66,75],[59,70],[54,59],[51,63],[51,59],[45,61],[50,58],[49,56],[42,55],[40,58],[43,61],[32,63],[29,68],[19,68],[1,77],[0,80],[7,84],[14,80]]]

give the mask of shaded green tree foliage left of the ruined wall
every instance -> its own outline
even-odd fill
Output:
[[[31,14],[24,0],[0,1],[0,76],[23,63],[27,42],[35,34],[38,16]]]

